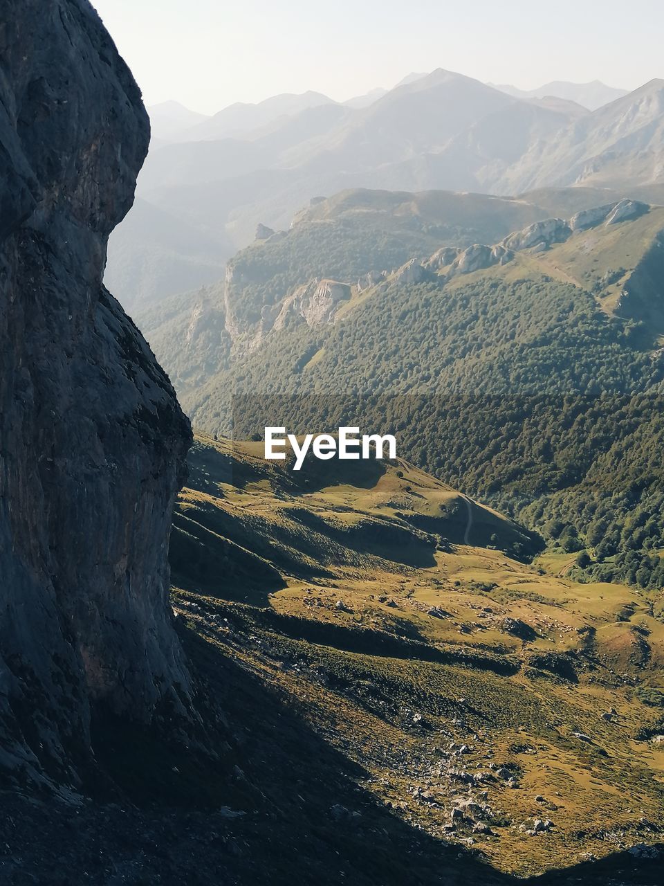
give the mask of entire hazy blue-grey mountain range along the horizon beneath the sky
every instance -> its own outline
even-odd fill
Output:
[[[199,236],[213,254],[192,260],[189,249],[169,246],[179,271],[156,284],[158,237],[133,231],[116,249],[120,227],[109,280],[127,305],[212,283],[213,268],[248,245],[259,223],[287,228],[310,199],[349,188],[514,195],[587,185],[657,202],[663,96],[664,82],[652,81],[590,112],[565,97],[508,96],[438,70],[364,106],[313,93],[233,105],[189,128],[194,140],[153,150],[138,184],[143,209],[191,228],[185,243]]]

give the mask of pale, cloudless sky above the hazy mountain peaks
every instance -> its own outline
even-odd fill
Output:
[[[343,101],[437,67],[535,89],[664,77],[661,0],[92,0],[147,105]]]

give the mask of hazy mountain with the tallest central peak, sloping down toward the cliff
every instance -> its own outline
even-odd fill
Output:
[[[477,136],[473,128],[485,119]],[[140,193],[169,214],[225,229],[242,246],[259,222],[287,227],[309,199],[359,185],[486,190],[491,175],[504,172],[519,150],[567,119],[438,71],[363,109],[310,109],[254,134],[251,143],[163,148],[149,159]],[[484,140],[497,146],[498,158],[482,153]]]

